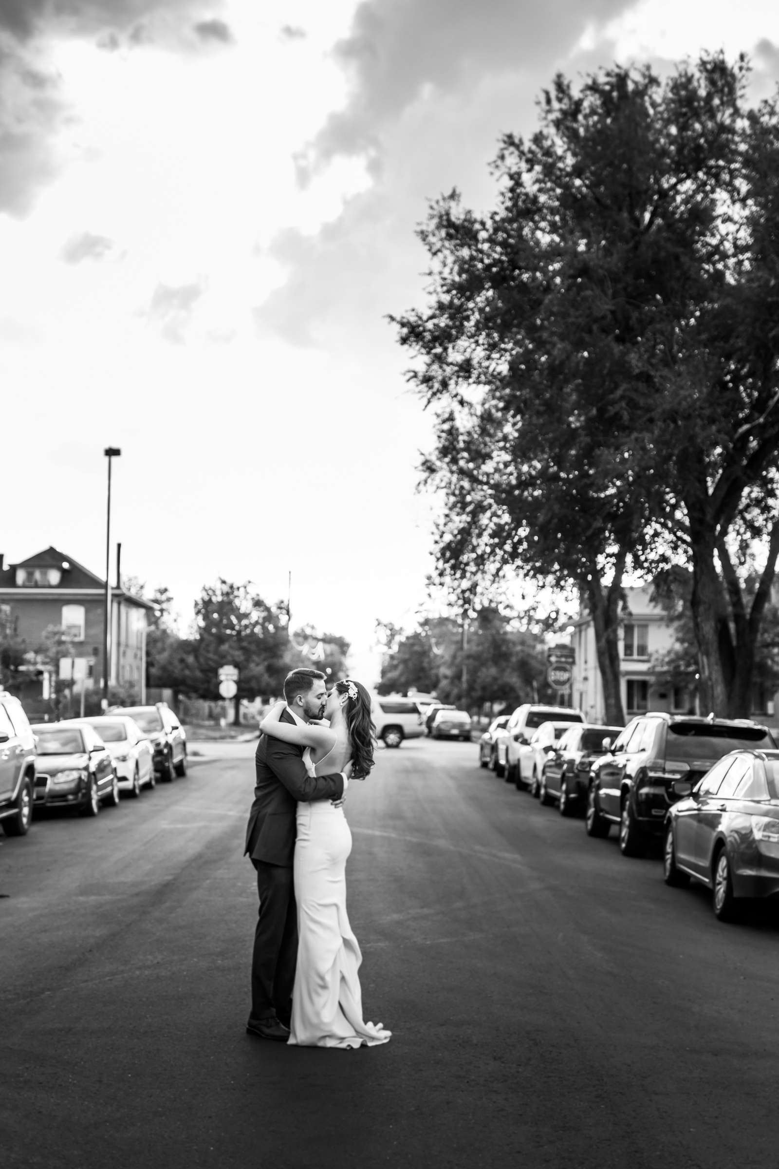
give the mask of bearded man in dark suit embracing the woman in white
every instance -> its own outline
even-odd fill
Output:
[[[281,722],[311,722],[325,715],[327,687],[318,670],[293,670],[284,682],[286,710]],[[263,1039],[290,1038],[292,985],[298,957],[298,907],[294,900],[294,859],[298,801],[341,800],[352,765],[333,775],[311,776],[302,747],[260,735],[255,762],[257,786],[246,825],[244,853],[257,870],[259,915],[251,960],[250,1035]]]

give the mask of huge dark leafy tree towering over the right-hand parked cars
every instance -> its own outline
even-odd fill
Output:
[[[622,575],[674,556],[707,704],[749,710],[779,553],[779,116],[746,76],[714,55],[557,77],[537,133],[503,139],[496,209],[432,206],[429,305],[394,318],[437,416],[441,575],[578,586],[610,721]]]

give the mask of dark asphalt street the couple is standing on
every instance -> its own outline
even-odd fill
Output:
[[[252,746],[0,845],[5,1169],[779,1163],[775,914],[719,925],[471,745],[382,752],[349,791],[391,1042],[246,1036]]]

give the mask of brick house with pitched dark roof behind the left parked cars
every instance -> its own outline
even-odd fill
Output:
[[[111,588],[111,685],[132,685],[138,700],[146,696],[147,615],[154,606],[123,588]],[[74,690],[99,687],[104,677],[103,630],[105,581],[72,556],[46,548],[16,565],[0,556],[0,618],[6,634],[23,639],[36,650],[51,627],[67,635],[72,650],[58,662],[58,676],[72,680]],[[51,671],[37,671],[39,692],[26,697],[46,701],[50,697]]]

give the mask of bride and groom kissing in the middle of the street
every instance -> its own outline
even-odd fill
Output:
[[[362,1047],[391,1031],[362,1018],[362,955],[346,912],[349,780],[374,766],[370,694],[359,682],[293,670],[259,725],[246,848],[259,914],[250,1035],[304,1047]],[[321,722],[327,719],[328,724]]]

